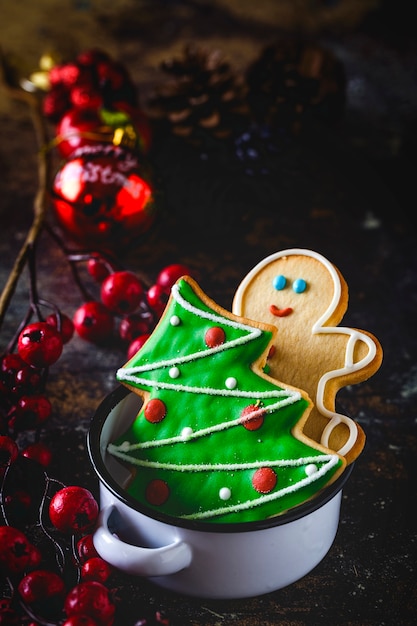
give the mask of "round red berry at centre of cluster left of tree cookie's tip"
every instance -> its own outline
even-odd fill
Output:
[[[113,272],[101,285],[103,304],[120,315],[134,313],[142,302],[142,297],[142,283],[133,272]]]

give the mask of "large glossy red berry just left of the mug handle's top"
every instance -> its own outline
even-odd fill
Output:
[[[84,487],[63,487],[49,504],[49,518],[61,532],[86,532],[94,527],[97,516],[97,500]]]

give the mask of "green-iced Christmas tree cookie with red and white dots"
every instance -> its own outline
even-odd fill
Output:
[[[267,376],[276,329],[221,309],[189,277],[117,379],[143,397],[109,452],[134,468],[127,491],[188,520],[247,522],[314,497],[343,471],[308,439],[308,396]]]

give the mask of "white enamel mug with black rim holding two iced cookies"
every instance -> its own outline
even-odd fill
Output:
[[[185,521],[155,512],[123,488],[129,472],[107,444],[132,423],[140,397],[118,387],[92,419],[87,446],[100,486],[94,545],[114,567],[201,598],[247,598],[281,589],[310,572],[336,536],[342,487],[352,466],[317,498],[260,522]]]

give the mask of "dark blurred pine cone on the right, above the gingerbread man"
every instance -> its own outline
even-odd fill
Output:
[[[345,71],[331,51],[285,40],[264,49],[247,72],[248,102],[258,123],[297,134],[311,118],[341,119]]]

